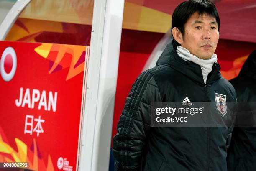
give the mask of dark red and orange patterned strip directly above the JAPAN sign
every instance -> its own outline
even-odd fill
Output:
[[[89,25],[19,18],[5,40],[89,46],[91,29]]]

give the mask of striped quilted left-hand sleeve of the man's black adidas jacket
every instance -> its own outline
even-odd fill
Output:
[[[116,171],[139,171],[151,125],[151,102],[161,101],[159,89],[149,71],[132,86],[113,138]]]

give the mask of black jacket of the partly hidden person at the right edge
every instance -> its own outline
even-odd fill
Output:
[[[248,56],[238,77],[230,82],[236,89],[238,122],[228,151],[228,171],[255,171],[256,51]]]

